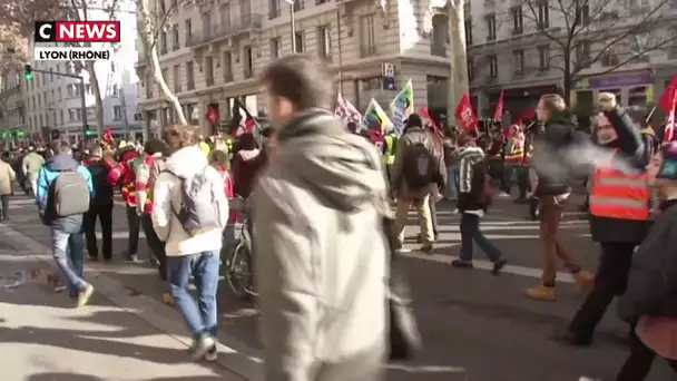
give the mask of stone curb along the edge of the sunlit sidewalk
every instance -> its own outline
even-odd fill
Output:
[[[49,253],[49,247],[3,224],[0,224],[0,236],[6,237],[14,247],[22,247],[21,252],[35,261],[53,267],[52,256],[40,254]],[[186,335],[183,319],[174,309],[145,294],[133,296],[125,284],[94,270],[85,268],[85,275],[95,287],[95,292],[104,299],[166,333],[186,348],[190,346],[192,339]],[[262,352],[241,341],[229,339],[223,331],[219,332],[219,336],[222,339],[218,343],[219,356],[216,363],[234,377],[246,381],[263,381]]]

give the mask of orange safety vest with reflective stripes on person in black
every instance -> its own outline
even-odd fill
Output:
[[[614,168],[597,169],[590,189],[590,214],[596,217],[648,221],[651,192],[646,173],[626,174]]]

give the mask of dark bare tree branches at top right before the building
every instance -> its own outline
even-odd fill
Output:
[[[677,39],[670,0],[526,0],[524,8],[524,29],[548,40],[548,67],[561,71],[568,101],[578,81],[646,62]]]

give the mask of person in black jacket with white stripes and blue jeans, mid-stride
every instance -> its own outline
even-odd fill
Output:
[[[491,273],[498,275],[507,261],[501,252],[480,231],[480,218],[491,204],[487,182],[484,153],[474,145],[468,135],[459,136],[459,201],[457,207],[461,213],[461,255],[451,262],[454,267],[472,267],[472,243],[477,243],[493,263]]]

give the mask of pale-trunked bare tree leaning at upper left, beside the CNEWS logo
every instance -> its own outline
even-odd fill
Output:
[[[140,23],[138,26],[139,36],[144,47],[143,55],[148,60],[146,72],[153,75],[155,82],[159,86],[165,98],[171,104],[174,111],[178,116],[178,121],[181,125],[188,125],[186,116],[181,108],[178,97],[169,89],[167,81],[163,76],[163,67],[158,55],[158,41],[176,22],[175,16],[179,8],[195,4],[196,0],[174,0],[169,7],[166,7],[165,1],[156,1],[153,6],[149,0],[137,0],[137,11]],[[205,0],[200,1],[205,2]],[[148,71],[149,70],[149,71]],[[144,75],[144,85],[151,86],[147,81],[148,76]]]

